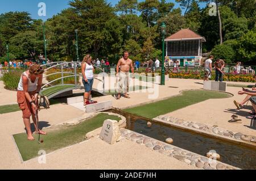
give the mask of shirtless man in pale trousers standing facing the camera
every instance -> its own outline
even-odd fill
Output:
[[[131,72],[133,73],[133,78],[134,78],[134,67],[133,67],[133,61],[128,57],[129,57],[129,53],[127,51],[124,52],[123,58],[121,58],[117,64],[117,77],[119,77],[117,99],[121,98],[122,90],[124,90],[125,92],[125,98],[130,98],[127,95],[127,90],[129,85],[129,71],[131,69]],[[120,72],[119,72],[119,66],[120,66]]]

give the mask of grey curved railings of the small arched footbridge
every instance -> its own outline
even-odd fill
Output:
[[[82,62],[63,62],[63,61],[59,61],[59,62],[51,62],[51,63],[48,63],[48,64],[41,65],[42,67],[46,67],[45,71],[56,68],[58,66],[60,66],[60,68],[61,68],[61,71],[56,72],[56,73],[52,73],[52,74],[48,74],[48,75],[43,77],[43,78],[47,78],[51,75],[61,74],[60,78],[56,78],[56,79],[52,80],[51,82],[46,83],[46,85],[44,85],[42,87],[42,89],[44,87],[48,86],[48,85],[51,85],[51,83],[53,83],[53,82],[59,81],[60,79],[61,79],[61,85],[64,85],[64,78],[69,78],[69,77],[74,77],[75,78],[75,89],[77,89],[77,77],[82,77],[82,74],[77,73],[77,67],[81,66],[81,64],[82,64]],[[74,73],[64,71],[64,66],[65,65],[71,65],[71,68],[74,70]],[[98,79],[96,77],[94,77],[94,79],[97,79],[98,81],[102,82],[103,94],[105,94],[105,69],[102,69],[102,68],[100,68],[96,65],[93,65],[93,66],[94,66],[94,68],[100,69],[103,72],[102,80]],[[73,75],[64,76],[64,74],[73,74]]]

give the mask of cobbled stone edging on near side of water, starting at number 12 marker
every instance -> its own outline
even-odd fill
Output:
[[[159,151],[164,155],[178,159],[181,162],[185,162],[188,165],[196,166],[199,169],[204,170],[240,170],[237,167],[222,163],[219,161],[214,161],[210,158],[204,157],[202,155],[193,153],[188,150],[178,148],[176,146],[166,144],[165,142],[155,140],[139,134],[128,129],[120,130],[122,137],[127,140],[136,142],[137,144],[144,145],[154,151]]]

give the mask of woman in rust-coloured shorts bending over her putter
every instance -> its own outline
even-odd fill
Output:
[[[35,113],[38,111],[37,98],[42,87],[43,73],[44,70],[42,67],[40,67],[40,65],[32,64],[27,71],[22,73],[18,85],[17,102],[20,110],[22,110],[22,117],[26,127],[28,140],[35,140],[35,138],[32,136],[30,126],[31,115],[35,126],[35,133],[46,134],[40,129],[37,129],[38,127],[35,119]]]

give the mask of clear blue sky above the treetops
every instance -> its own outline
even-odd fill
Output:
[[[69,7],[70,0],[0,0],[0,14],[9,11],[28,11],[33,19],[46,20],[51,18],[63,9]],[[107,0],[112,5],[118,3],[119,0]],[[142,1],[142,0],[139,0]],[[40,2],[46,3],[46,16],[38,15],[38,4]],[[175,2],[175,0],[167,0],[167,2]],[[179,7],[179,3],[175,3],[175,7]],[[203,5],[202,5],[203,6]]]

